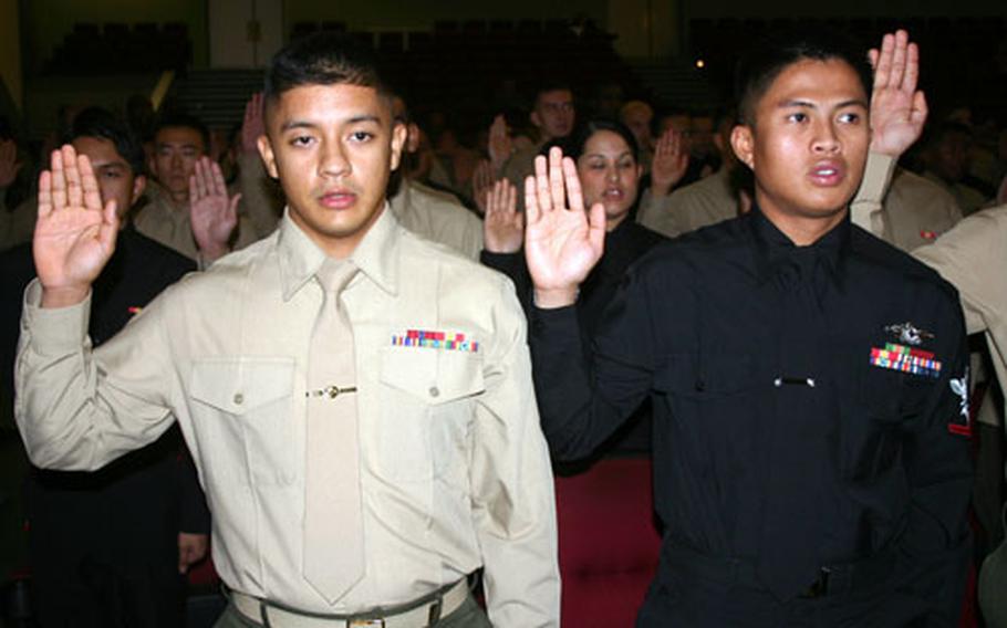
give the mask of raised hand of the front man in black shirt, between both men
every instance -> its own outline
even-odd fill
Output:
[[[605,209],[584,209],[577,166],[553,147],[549,160],[534,158],[534,176],[525,180],[525,258],[539,307],[561,307],[577,300],[578,286],[601,259]]]

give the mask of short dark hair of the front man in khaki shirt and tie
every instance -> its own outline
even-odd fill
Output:
[[[354,38],[330,31],[294,40],[273,55],[263,93],[269,106],[301,85],[338,84],[373,87],[387,98],[393,95],[374,51]]]

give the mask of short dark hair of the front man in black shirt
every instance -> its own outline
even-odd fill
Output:
[[[871,94],[871,66],[865,49],[849,35],[831,30],[802,27],[774,30],[761,39],[738,64],[735,100],[741,124],[755,124],[755,107],[787,67],[803,60],[842,61],[857,72],[864,93]]]

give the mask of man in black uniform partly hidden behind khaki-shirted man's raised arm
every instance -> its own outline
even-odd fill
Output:
[[[145,184],[143,149],[126,126],[108,112],[85,109],[68,142],[94,167],[100,189],[91,193],[101,193],[104,203],[114,200],[120,216],[126,214]],[[195,270],[128,220],[123,224],[117,249],[94,284],[89,331],[95,345]],[[34,275],[30,244],[0,258],[4,385],[12,386],[21,293]],[[32,469],[27,512],[40,626],[184,625],[179,572],[206,554],[209,513],[177,428],[97,472]]]

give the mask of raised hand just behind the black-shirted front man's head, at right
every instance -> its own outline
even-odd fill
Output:
[[[871,92],[871,151],[899,157],[923,133],[926,98],[916,90],[920,49],[909,34],[896,31],[881,40],[881,50],[868,53],[874,69]]]

